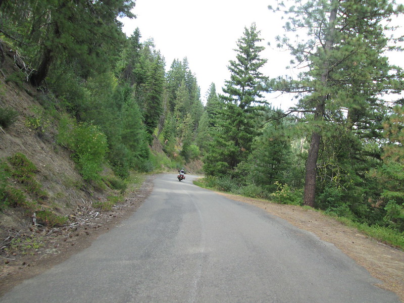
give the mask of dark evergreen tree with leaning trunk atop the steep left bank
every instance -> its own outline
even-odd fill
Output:
[[[29,80],[40,85],[55,62],[79,64],[85,77],[92,70],[108,69],[125,41],[117,17],[133,18],[130,10],[134,5],[134,0],[7,1],[1,7],[0,19],[2,31],[29,49],[34,68]],[[32,44],[38,46],[26,47]]]

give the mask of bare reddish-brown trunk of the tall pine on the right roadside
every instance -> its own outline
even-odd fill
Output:
[[[335,32],[335,20],[337,16],[337,8],[338,8],[338,0],[333,0],[332,9],[330,12],[329,27],[325,36],[326,41],[324,49],[326,54],[330,51],[331,46],[334,43],[333,38]],[[324,87],[327,86],[329,72],[330,69],[328,59],[327,57],[325,57],[325,61],[323,64],[323,72],[321,74],[320,79]],[[323,95],[319,98],[316,106],[316,113],[314,115],[315,122],[321,121],[323,119],[326,100],[327,100],[326,95]],[[316,127],[318,128],[319,126]],[[319,156],[320,141],[321,141],[320,129],[315,130],[312,134],[312,141],[310,143],[309,154],[306,163],[305,194],[303,198],[303,204],[311,207],[314,206],[316,195],[317,159]]]

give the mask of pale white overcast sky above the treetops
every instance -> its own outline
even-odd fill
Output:
[[[130,36],[138,27],[141,41],[153,38],[166,59],[166,70],[174,59],[187,57],[205,103],[212,82],[217,92],[222,92],[224,81],[230,78],[227,66],[235,59],[236,42],[243,36],[244,27],[252,22],[261,31],[266,46],[261,57],[268,59],[268,63],[261,72],[270,78],[291,72],[285,69],[290,55],[267,45],[271,42],[275,46],[274,37],[283,32],[281,15],[268,10],[268,5],[275,3],[275,0],[136,0],[133,13],[137,18],[124,19],[123,30]],[[290,97],[278,96],[279,93],[267,96],[274,107],[286,110],[293,105]]]

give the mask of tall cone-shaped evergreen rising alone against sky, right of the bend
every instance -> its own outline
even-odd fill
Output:
[[[206,157],[204,169],[208,174],[230,173],[246,159],[258,134],[255,118],[260,108],[257,104],[266,103],[262,92],[267,80],[260,72],[267,60],[260,58],[264,46],[258,45],[262,41],[259,34],[253,23],[244,28],[243,36],[237,41],[236,60],[231,60],[228,66],[230,80],[225,81],[225,95],[220,96],[225,105],[217,121],[218,132]]]

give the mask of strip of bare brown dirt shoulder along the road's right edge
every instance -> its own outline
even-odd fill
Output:
[[[373,277],[381,280],[382,283],[377,286],[395,292],[404,302],[404,251],[380,243],[355,228],[347,227],[315,211],[237,195],[219,194],[265,209],[271,215],[310,231],[321,240],[333,243],[344,254],[366,268]]]

